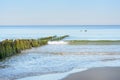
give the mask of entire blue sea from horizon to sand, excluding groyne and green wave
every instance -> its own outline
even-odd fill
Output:
[[[120,40],[120,25],[0,26],[0,41],[69,35],[71,40]],[[0,61],[0,80],[61,80],[95,67],[120,67],[120,45],[48,44]]]

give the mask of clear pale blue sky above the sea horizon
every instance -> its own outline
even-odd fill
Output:
[[[120,25],[120,0],[0,0],[0,25]]]

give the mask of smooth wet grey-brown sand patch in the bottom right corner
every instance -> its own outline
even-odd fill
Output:
[[[120,80],[120,67],[92,68],[70,74],[62,80]]]

